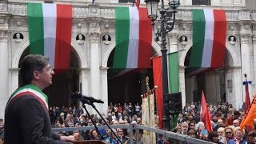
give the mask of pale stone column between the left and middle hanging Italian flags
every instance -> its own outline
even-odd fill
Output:
[[[90,23],[90,96],[102,99],[102,86],[100,84],[100,53],[99,53],[99,23]],[[98,111],[102,112],[102,104],[94,103]],[[104,104],[105,105],[105,104]],[[90,111],[91,114],[96,114],[96,111]]]

